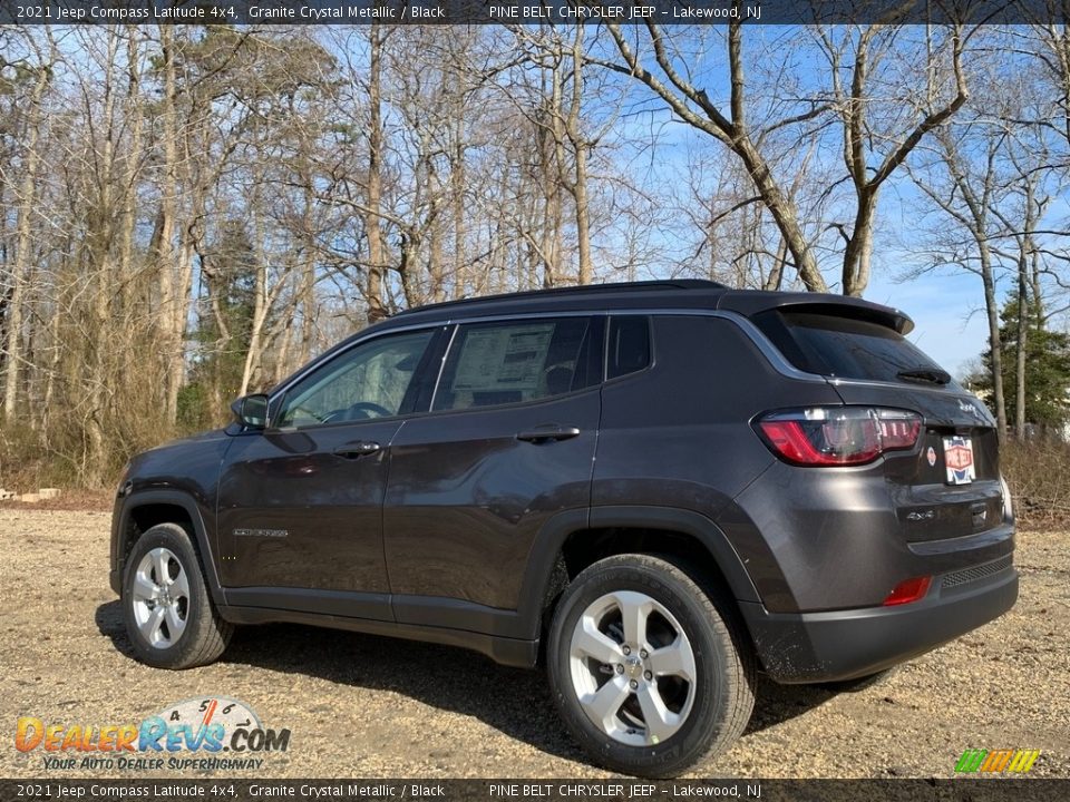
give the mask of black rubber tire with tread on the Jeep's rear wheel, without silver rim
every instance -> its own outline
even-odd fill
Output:
[[[600,765],[635,776],[672,777],[726,751],[743,733],[755,705],[756,661],[730,606],[719,600],[714,588],[704,587],[701,581],[698,573],[678,565],[671,557],[620,555],[583,570],[562,596],[546,653],[551,688],[566,726]],[[675,732],[660,743],[651,744],[649,735],[645,745],[623,743],[611,736],[584,712],[573,683],[570,652],[581,617],[606,594],[628,590],[642,593],[663,606],[687,636],[694,656],[690,713]],[[623,637],[614,639],[621,643]],[[602,674],[611,673],[606,666],[602,667]],[[634,665],[629,667],[632,669],[639,671]],[[625,675],[621,676],[623,681]],[[643,682],[645,676],[636,675],[635,682]],[[610,679],[604,682],[607,684]],[[629,697],[615,716],[621,716],[628,705],[634,710],[638,701]],[[624,722],[625,727],[633,722],[634,715]]]

